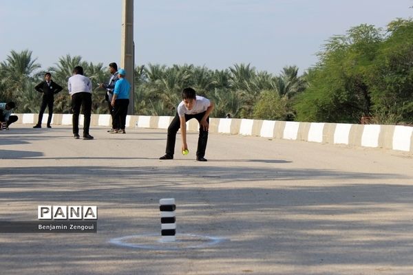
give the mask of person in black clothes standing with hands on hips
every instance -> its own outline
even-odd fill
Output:
[[[43,113],[45,112],[46,106],[49,109],[47,128],[52,128],[50,123],[52,122],[53,115],[54,94],[59,93],[59,91],[63,90],[63,88],[52,80],[52,74],[45,73],[45,80],[36,85],[34,89],[39,91],[39,93],[42,93],[43,98],[41,100],[39,120],[37,120],[37,124],[34,125],[33,128],[41,128],[41,120],[43,119]]]

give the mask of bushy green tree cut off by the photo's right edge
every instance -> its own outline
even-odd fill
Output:
[[[388,25],[388,38],[374,60],[369,86],[378,123],[413,121],[413,21]]]

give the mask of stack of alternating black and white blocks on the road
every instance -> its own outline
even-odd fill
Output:
[[[160,199],[160,234],[161,241],[175,241],[176,237],[176,218],[175,218],[175,199]]]

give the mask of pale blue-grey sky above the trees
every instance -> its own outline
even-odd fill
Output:
[[[31,50],[42,69],[70,54],[120,64],[122,0],[0,0],[0,61]],[[357,25],[413,16],[413,0],[135,0],[135,65],[251,64],[279,74],[317,63],[326,41]]]

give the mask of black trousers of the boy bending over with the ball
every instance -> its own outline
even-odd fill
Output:
[[[202,118],[204,117],[205,112],[202,113],[197,113],[195,115],[185,115],[185,122],[188,120],[191,120],[192,118],[195,118],[200,122]],[[209,123],[209,117],[207,118],[207,122]],[[169,124],[168,127],[168,137],[167,137],[167,150],[165,153],[167,155],[173,155],[175,153],[175,142],[176,142],[176,133],[180,129],[180,120],[179,120],[179,115],[176,113],[175,118],[173,118],[171,124]],[[198,148],[196,150],[196,156],[197,157],[204,157],[205,156],[205,150],[207,149],[207,142],[208,142],[208,131],[205,131],[202,129],[200,125],[200,135],[198,136]]]

